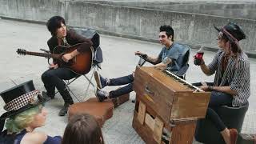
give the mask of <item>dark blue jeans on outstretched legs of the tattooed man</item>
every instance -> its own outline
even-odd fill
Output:
[[[110,78],[110,82],[107,86],[121,86],[126,85],[124,87],[121,87],[118,90],[112,90],[110,91],[110,98],[117,98],[123,94],[128,94],[133,91],[133,82],[134,82],[134,76],[133,74],[120,77],[120,78]]]

